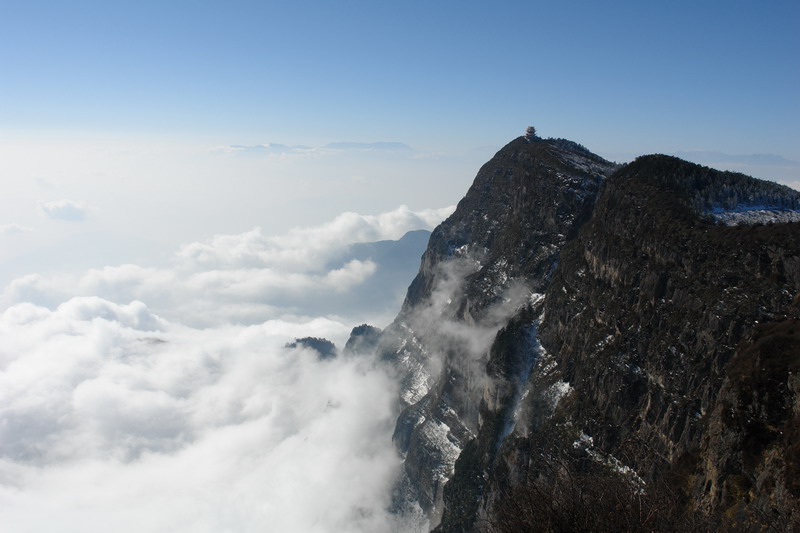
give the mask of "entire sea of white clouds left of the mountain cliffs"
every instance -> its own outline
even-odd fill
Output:
[[[354,290],[380,268],[326,270],[331,257],[431,228],[452,209],[346,213],[282,236],[189,244],[169,267],[10,283],[0,529],[404,530],[387,512],[400,463],[395,384],[369,355],[321,361],[285,344],[341,347],[356,325],[342,318],[352,313],[292,306]]]

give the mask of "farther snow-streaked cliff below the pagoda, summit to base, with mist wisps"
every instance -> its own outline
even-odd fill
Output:
[[[528,364],[499,369],[508,379],[487,374],[498,330],[548,285],[559,249],[615,168],[569,141],[518,138],[431,235],[382,351],[402,383],[394,439],[405,476],[396,500],[418,502],[433,525],[456,458],[489,418],[502,423],[498,402],[514,395],[517,367]]]

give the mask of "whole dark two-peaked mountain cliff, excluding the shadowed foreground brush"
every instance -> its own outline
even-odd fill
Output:
[[[617,169],[512,141],[433,232],[381,339],[403,384],[398,510],[480,529],[564,453],[704,516],[796,519],[800,224],[720,221],[792,220],[798,202],[666,156]]]

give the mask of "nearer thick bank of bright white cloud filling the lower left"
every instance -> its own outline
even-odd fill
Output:
[[[22,531],[387,531],[394,389],[283,344],[76,298],[0,316],[0,514]]]

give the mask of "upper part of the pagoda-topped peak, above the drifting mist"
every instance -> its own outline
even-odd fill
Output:
[[[437,267],[453,256],[474,259],[466,282],[474,317],[499,297],[507,278],[540,291],[558,249],[586,219],[603,179],[616,165],[563,139],[520,137],[478,172],[456,212],[431,235],[403,312],[424,304]],[[402,315],[402,313],[401,313]]]

